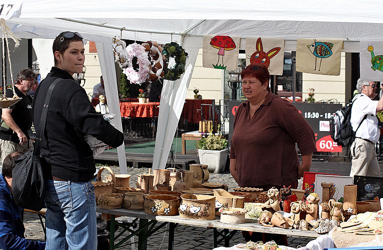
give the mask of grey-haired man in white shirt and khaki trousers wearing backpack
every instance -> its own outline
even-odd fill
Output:
[[[356,131],[355,140],[350,148],[352,155],[350,176],[380,176],[375,152],[375,143],[380,135],[376,113],[383,110],[383,96],[379,100],[371,99],[375,96],[376,87],[374,81],[358,79],[356,83],[359,94],[353,98],[350,118],[352,130]],[[382,86],[380,88],[383,89]]]

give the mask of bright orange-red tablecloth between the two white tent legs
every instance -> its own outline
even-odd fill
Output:
[[[139,103],[120,102],[121,117],[155,117],[158,116],[159,102]]]

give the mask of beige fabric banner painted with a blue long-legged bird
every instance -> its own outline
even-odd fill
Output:
[[[340,39],[297,39],[296,71],[312,74],[340,74]]]

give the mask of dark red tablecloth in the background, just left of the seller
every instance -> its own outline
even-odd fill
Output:
[[[182,117],[191,123],[198,123],[201,120],[201,104],[211,104],[212,99],[186,99],[183,105]],[[209,106],[203,106],[203,118],[209,119]],[[211,119],[211,117],[210,117]]]

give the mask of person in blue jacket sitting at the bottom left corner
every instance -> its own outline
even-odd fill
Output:
[[[0,174],[0,247],[1,249],[45,249],[45,242],[25,239],[22,210],[13,200],[12,169],[20,151],[8,154]]]

